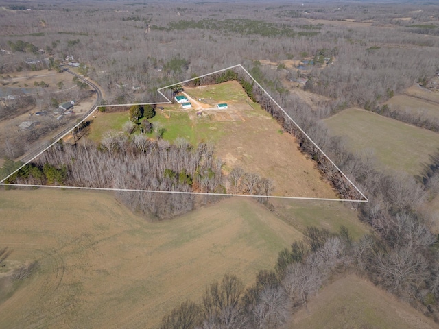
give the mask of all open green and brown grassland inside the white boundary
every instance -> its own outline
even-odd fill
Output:
[[[184,137],[193,144],[212,143],[215,154],[225,162],[226,173],[241,167],[271,178],[273,195],[337,198],[314,162],[300,153],[296,138],[283,133],[270,114],[248,98],[239,82],[185,88],[185,93],[201,99],[200,108],[183,110],[178,104],[157,108],[150,121],[166,128],[163,138],[174,141]],[[227,103],[228,108],[219,110],[215,107],[218,103]],[[126,121],[127,112],[98,113],[88,138],[98,142],[104,131],[120,131]],[[149,136],[153,138],[154,134]]]

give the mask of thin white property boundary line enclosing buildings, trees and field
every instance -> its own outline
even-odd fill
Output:
[[[292,121],[292,123],[294,123],[294,125],[296,125],[296,127],[298,127],[298,129],[300,130],[300,132],[302,132],[302,134],[304,134],[309,141],[311,141],[311,143],[313,143],[313,145],[320,151],[322,152],[322,154],[325,156],[325,158],[327,158],[329,160],[329,162],[331,162],[331,164],[337,169],[337,171],[339,171],[344,178],[346,178],[346,180],[348,180],[348,182],[354,186],[355,190],[362,196],[364,197],[364,200],[353,200],[353,199],[326,199],[326,198],[319,198],[319,197],[280,197],[280,196],[265,196],[265,195],[242,195],[242,194],[223,194],[223,193],[200,193],[200,192],[181,192],[181,191],[152,191],[152,190],[140,190],[140,189],[131,189],[131,188],[98,188],[98,187],[80,187],[80,186],[54,186],[54,185],[29,185],[29,184],[5,184],[4,181],[7,180],[8,178],[10,178],[10,176],[14,175],[14,173],[16,173],[17,171],[19,171],[21,168],[25,167],[26,164],[28,164],[29,162],[31,162],[32,160],[34,160],[35,158],[37,158],[38,156],[40,156],[41,154],[43,154],[47,149],[49,149],[50,147],[52,147],[53,145],[55,145],[56,143],[58,143],[58,141],[60,141],[62,138],[64,138],[64,136],[67,136],[67,134],[70,134],[76,127],[78,127],[82,122],[84,122],[86,119],[88,119],[88,117],[90,117],[93,112],[95,112],[95,110],[97,110],[98,108],[104,108],[107,106],[132,106],[132,105],[154,105],[154,104],[171,104],[172,101],[170,99],[168,99],[162,92],[161,90],[172,87],[172,86],[177,86],[179,84],[185,84],[186,82],[190,82],[192,80],[196,80],[196,79],[200,79],[201,77],[206,77],[208,75],[212,75],[212,74],[216,74],[216,73],[220,73],[223,71],[227,71],[230,69],[242,69],[253,81],[255,84],[257,84],[257,86],[259,86],[259,88],[261,88],[261,90],[263,90],[263,92],[268,95],[268,97],[270,97],[270,99],[276,104],[276,106],[278,106],[278,108],[285,114],[285,116]],[[285,110],[273,99],[273,97],[271,97],[271,95],[259,84],[259,82],[257,82],[256,80],[254,80],[254,77],[252,77],[252,75],[250,75],[250,73],[248,73],[248,71],[246,69],[244,69],[244,67],[241,64],[237,64],[234,66],[230,66],[226,69],[221,69],[215,72],[211,72],[211,73],[207,73],[204,75],[200,75],[198,77],[193,77],[191,79],[188,80],[184,80],[182,82],[178,82],[176,84],[170,84],[169,86],[165,86],[162,88],[158,88],[157,92],[163,96],[163,98],[165,98],[167,101],[163,101],[163,102],[155,102],[155,103],[130,103],[130,104],[115,104],[115,105],[101,105],[101,106],[95,106],[95,108],[93,108],[93,110],[91,111],[90,114],[88,114],[87,117],[84,117],[84,119],[82,119],[82,121],[80,121],[79,123],[77,123],[75,126],[73,126],[73,128],[71,130],[69,130],[68,132],[66,132],[64,135],[62,135],[57,141],[54,141],[54,143],[51,143],[51,145],[49,145],[48,147],[46,147],[45,149],[43,149],[43,151],[40,151],[36,156],[34,156],[34,158],[32,158],[31,160],[29,160],[28,162],[26,162],[25,164],[23,164],[21,167],[19,167],[19,169],[16,169],[15,171],[13,171],[12,173],[10,173],[8,176],[6,176],[5,178],[3,178],[3,180],[0,181],[0,186],[23,186],[23,187],[47,187],[47,188],[70,188],[70,189],[80,189],[80,190],[93,190],[93,191],[126,191],[126,192],[149,192],[149,193],[175,193],[175,194],[187,194],[187,195],[216,195],[216,196],[233,196],[233,197],[268,197],[271,199],[300,199],[300,200],[320,200],[320,201],[342,201],[342,202],[368,202],[369,199],[366,197],[366,195],[364,195],[359,188],[357,188],[357,186],[355,186],[355,184],[353,184],[353,182],[343,173],[343,171],[340,170],[339,167],[337,167],[337,165],[329,158],[329,156],[327,156],[327,154],[324,153],[324,151],[322,151],[322,149],[320,149],[320,147],[318,147],[318,145],[311,139],[311,137],[308,136],[308,134],[302,130],[302,128],[296,123],[296,121],[294,121],[292,119],[292,117],[289,116],[289,114],[287,114],[287,112],[285,112]]]

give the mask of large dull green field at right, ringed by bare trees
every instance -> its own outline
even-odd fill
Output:
[[[371,149],[383,167],[419,175],[439,148],[439,134],[359,108],[348,108],[324,122],[332,135],[346,136],[352,151]]]

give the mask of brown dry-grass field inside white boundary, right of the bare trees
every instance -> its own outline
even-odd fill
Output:
[[[273,195],[337,198],[329,183],[322,180],[314,162],[300,153],[296,138],[283,133],[270,114],[248,99],[238,82],[185,91],[194,98],[211,97],[212,104],[230,104],[226,111],[204,111],[211,120],[223,112],[230,118],[222,120],[222,134],[215,143],[215,153],[226,162],[226,168],[241,167],[271,178],[275,186]],[[227,96],[232,99],[226,99]]]

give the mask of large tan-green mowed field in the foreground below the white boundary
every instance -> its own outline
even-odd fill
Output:
[[[149,223],[111,193],[0,191],[0,328],[155,328],[235,273],[251,284],[301,234],[247,198]],[[8,285],[8,269],[39,269]]]

